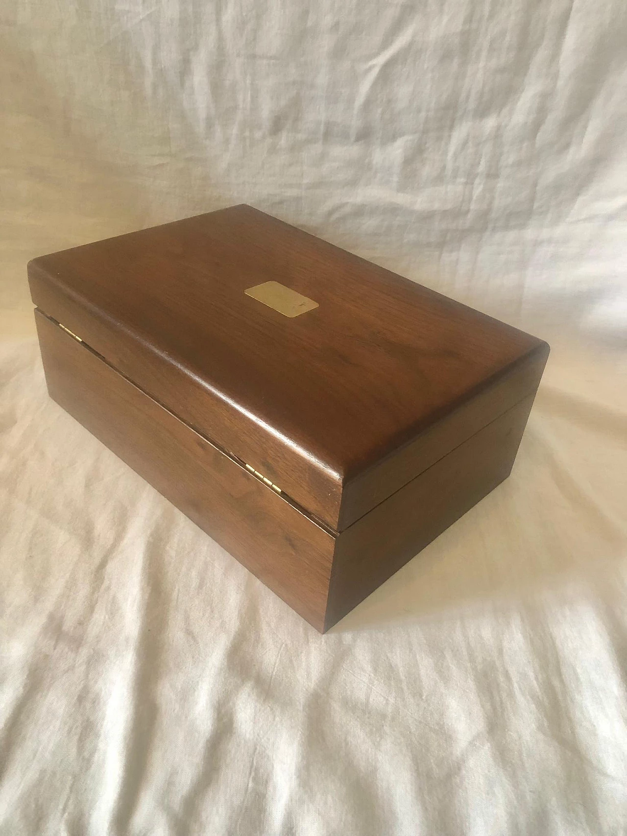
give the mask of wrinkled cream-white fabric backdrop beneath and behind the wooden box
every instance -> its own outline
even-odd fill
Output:
[[[0,833],[627,829],[627,7],[0,8]],[[25,263],[246,201],[553,344],[324,638],[46,396]]]

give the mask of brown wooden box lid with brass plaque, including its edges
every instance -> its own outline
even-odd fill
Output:
[[[548,354],[251,206],[38,257],[28,277],[44,314],[336,531],[533,390]]]

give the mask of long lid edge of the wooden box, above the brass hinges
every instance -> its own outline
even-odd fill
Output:
[[[274,432],[273,427],[238,410],[237,404],[205,385],[201,376],[160,352],[147,335],[130,334],[120,322],[90,308],[84,299],[74,298],[39,266],[37,259],[28,264],[28,283],[33,302],[44,314],[84,339],[115,369],[171,407],[186,424],[247,461],[329,528],[337,528],[342,491],[337,475]]]

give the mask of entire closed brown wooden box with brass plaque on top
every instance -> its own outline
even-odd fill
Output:
[[[548,356],[251,206],[28,278],[51,397],[321,631],[508,476]]]

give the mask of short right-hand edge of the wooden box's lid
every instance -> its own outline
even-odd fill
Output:
[[[535,394],[548,358],[548,345],[538,348],[477,392],[449,415],[436,421],[409,444],[359,473],[344,486],[339,531],[348,528],[418,474],[475,435],[527,395]]]

